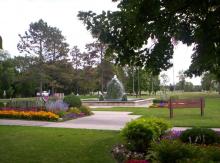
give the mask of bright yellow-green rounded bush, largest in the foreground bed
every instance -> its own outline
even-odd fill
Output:
[[[161,119],[141,118],[127,123],[122,130],[127,146],[132,151],[145,152],[153,140],[157,140],[169,128]]]

